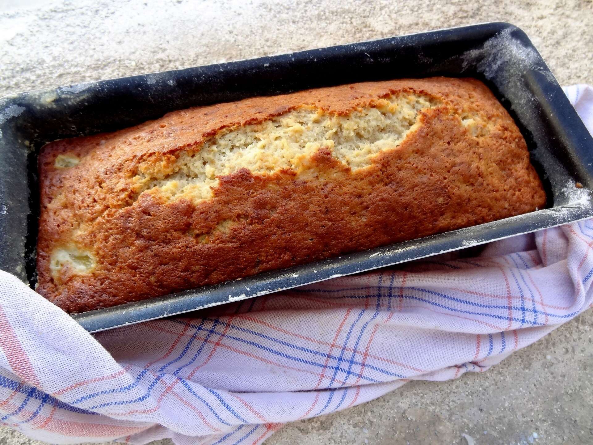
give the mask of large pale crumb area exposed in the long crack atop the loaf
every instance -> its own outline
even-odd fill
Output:
[[[422,110],[437,106],[422,94],[398,94],[348,115],[324,113],[303,106],[254,125],[227,129],[202,147],[181,151],[171,163],[146,161],[133,178],[136,197],[146,190],[165,199],[200,202],[212,198],[218,176],[242,168],[270,175],[292,170],[297,176],[311,169],[320,148],[352,171],[371,166],[381,151],[393,150],[420,125]]]

